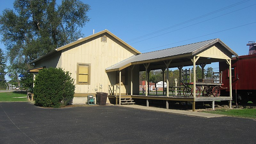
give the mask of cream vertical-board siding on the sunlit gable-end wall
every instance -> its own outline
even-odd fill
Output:
[[[107,36],[107,42],[101,42],[101,36]],[[77,63],[90,63],[91,83],[76,84],[75,93],[108,92],[110,80],[105,69],[132,55],[134,52],[130,48],[104,33],[63,49],[61,67],[72,73],[71,76],[75,79],[76,84]],[[115,76],[110,77],[115,78]],[[100,84],[103,85],[102,88],[99,87]],[[95,91],[95,89],[98,90]]]

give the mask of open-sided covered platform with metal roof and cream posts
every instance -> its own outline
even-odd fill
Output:
[[[109,91],[109,98],[116,98],[119,101],[119,105],[121,105],[122,97],[131,97],[136,99],[146,99],[148,100],[165,100],[166,108],[169,108],[169,100],[174,101],[191,101],[193,111],[195,111],[195,102],[196,101],[212,101],[214,106],[214,101],[217,100],[229,100],[229,108],[231,108],[231,100],[232,100],[232,84],[231,77],[229,79],[229,85],[226,87],[230,88],[230,92],[228,96],[225,97],[196,97],[196,65],[199,65],[202,68],[202,77],[204,77],[204,67],[207,64],[211,64],[213,62],[225,61],[229,66],[229,73],[231,73],[231,58],[232,56],[238,57],[236,52],[230,49],[226,44],[224,44],[220,39],[212,39],[203,42],[193,43],[182,45],[178,47],[173,47],[169,49],[147,52],[138,55],[134,55],[126,60],[123,60],[115,65],[106,68],[106,72],[118,72],[119,73],[119,84],[116,84],[116,91]],[[145,95],[139,95],[139,93],[133,93],[133,69],[139,68],[139,71],[145,71],[146,73],[146,85],[149,80],[149,72],[151,70],[161,69],[163,73],[163,82],[167,83],[167,87],[169,87],[169,75],[164,75],[165,71],[169,74],[169,68],[178,68],[180,71],[180,80],[181,80],[181,70],[183,67],[193,66],[193,79],[192,79],[192,97],[185,96],[169,96],[169,89],[166,90],[166,96],[149,96],[149,90],[146,89]],[[129,89],[130,92],[126,91],[126,93],[121,93],[121,80],[122,76],[121,72],[127,71],[126,73],[131,72],[130,76],[130,84]],[[139,76],[139,74],[138,74]],[[137,83],[137,81],[136,81]],[[113,85],[113,84],[112,84]],[[180,86],[180,84],[179,84]],[[125,87],[126,88],[126,87]],[[137,89],[137,88],[136,88]],[[164,89],[164,84],[163,84]],[[115,93],[115,94],[113,94]],[[120,96],[120,97],[119,97]],[[117,101],[117,100],[116,100]],[[117,104],[117,102],[116,102]],[[147,102],[148,106],[148,102]]]

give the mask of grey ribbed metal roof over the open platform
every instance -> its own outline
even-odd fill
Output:
[[[147,62],[175,59],[175,58],[184,58],[189,57],[201,52],[202,50],[208,48],[212,44],[220,43],[223,47],[225,47],[228,52],[238,57],[236,52],[230,49],[226,44],[224,44],[219,38],[211,39],[207,41],[202,41],[193,44],[187,44],[177,47],[172,47],[164,50],[158,50],[153,52],[146,52],[139,55],[134,55],[130,58],[127,58],[121,62],[116,63],[115,65],[106,68],[106,71],[116,71],[122,70],[132,64],[142,64]]]

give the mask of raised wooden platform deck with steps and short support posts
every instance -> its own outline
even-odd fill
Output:
[[[116,99],[116,104],[117,104],[117,99],[118,99],[118,95],[109,95],[109,98],[115,98]],[[147,100],[147,106],[149,106],[148,104],[148,100],[166,100],[166,108],[169,108],[168,106],[168,101],[172,100],[172,101],[191,101],[192,102],[192,110],[195,111],[195,102],[196,101],[212,101],[212,109],[214,109],[214,101],[217,100],[232,100],[232,97],[185,97],[185,96],[156,96],[156,95],[150,95],[150,96],[145,96],[145,95],[121,95],[121,98],[123,97],[131,97],[134,99],[145,99]],[[231,106],[229,106],[231,107]]]

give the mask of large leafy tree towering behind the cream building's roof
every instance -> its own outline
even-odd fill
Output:
[[[89,21],[88,4],[80,0],[15,0],[14,10],[0,16],[0,32],[10,68],[22,73],[28,62],[82,37]]]

